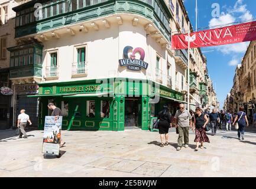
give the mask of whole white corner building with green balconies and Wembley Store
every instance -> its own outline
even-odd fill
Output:
[[[61,108],[63,129],[148,129],[164,104],[175,113],[184,102],[175,84],[179,79],[184,89],[186,68],[177,76],[176,58],[187,63],[186,53],[170,50],[175,18],[169,6],[160,0],[59,0],[15,7],[18,45],[8,48],[10,73],[14,87],[38,83],[38,94],[26,96],[39,100],[38,127],[51,113],[48,102]]]

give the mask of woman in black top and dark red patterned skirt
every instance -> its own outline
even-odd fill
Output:
[[[198,151],[199,149],[199,143],[201,143],[200,148],[203,149],[203,142],[210,142],[208,136],[206,135],[205,126],[209,122],[208,117],[202,113],[201,109],[199,107],[196,108],[196,115],[194,119],[194,126],[193,126],[193,132],[196,131],[196,149],[195,151]]]

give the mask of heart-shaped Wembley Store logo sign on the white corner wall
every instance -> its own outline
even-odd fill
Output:
[[[139,59],[136,56],[140,55]],[[120,66],[127,66],[129,70],[139,71],[141,68],[147,70],[148,63],[144,62],[145,51],[143,48],[137,47],[133,50],[131,46],[126,46],[123,53],[124,59],[119,60]]]

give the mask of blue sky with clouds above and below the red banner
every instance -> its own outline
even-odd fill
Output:
[[[217,3],[220,7],[220,15],[212,17],[212,4]],[[185,0],[190,22],[194,31],[196,28],[196,0]],[[255,0],[197,0],[198,6],[198,30],[207,30],[206,27],[215,25],[226,25],[232,22],[245,22],[256,18]],[[209,76],[213,80],[214,87],[221,103],[221,108],[233,86],[233,78],[237,64],[241,64],[247,45],[249,43],[238,43],[221,45],[218,47],[202,48],[208,60]],[[208,52],[207,52],[208,51]]]

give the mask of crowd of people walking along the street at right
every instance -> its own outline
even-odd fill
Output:
[[[195,132],[195,151],[198,151],[199,145],[200,149],[204,149],[205,146],[203,144],[205,142],[210,143],[206,133],[207,131],[212,130],[212,136],[215,136],[218,128],[222,130],[223,125],[225,125],[226,131],[231,131],[233,125],[238,131],[238,139],[244,140],[245,127],[249,125],[247,115],[244,112],[244,107],[240,107],[239,112],[237,113],[229,111],[223,112],[223,110],[221,110],[221,112],[216,112],[215,109],[212,109],[212,112],[209,112],[208,109],[203,111],[200,107],[197,107],[196,111],[193,112],[193,110],[186,110],[185,105],[181,104],[174,118],[176,133],[179,134],[177,139],[177,151],[180,151],[183,146],[184,148],[189,148],[189,129],[192,129],[192,131]],[[160,146],[167,146],[169,128],[173,126],[168,106],[163,106],[163,110],[158,113],[157,119],[161,139]],[[254,120],[256,124],[256,114]]]

